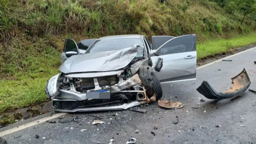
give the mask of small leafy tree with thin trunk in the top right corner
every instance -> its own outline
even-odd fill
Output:
[[[245,19],[246,15],[255,11],[255,1],[256,0],[238,0],[238,8],[239,11],[243,14],[243,19],[241,21],[241,25],[243,24],[243,20]]]

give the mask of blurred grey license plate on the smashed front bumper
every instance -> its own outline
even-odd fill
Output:
[[[98,90],[86,93],[88,99],[110,99],[110,90]]]

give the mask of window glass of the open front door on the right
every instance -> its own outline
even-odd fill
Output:
[[[193,35],[175,37],[159,47],[155,53],[157,55],[166,55],[195,51],[196,48],[194,43],[195,40]]]

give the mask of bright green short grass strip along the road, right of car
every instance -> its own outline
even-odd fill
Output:
[[[256,43],[256,33],[235,36],[230,39],[214,39],[198,43],[196,46],[197,58],[206,58],[216,54],[226,53],[231,48],[243,47]]]

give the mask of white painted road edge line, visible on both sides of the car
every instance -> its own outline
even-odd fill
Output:
[[[227,59],[227,58],[234,57],[235,55],[245,53],[246,51],[250,51],[250,50],[253,50],[253,49],[255,49],[255,48],[256,48],[256,47],[250,48],[250,49],[245,50],[245,51],[241,51],[241,52],[236,53],[236,54],[233,54],[233,55],[229,55],[229,56],[224,57],[224,58],[221,58],[221,59],[219,59],[219,60],[210,62],[210,63],[205,64],[205,65],[202,65],[202,66],[199,66],[199,67],[196,68],[196,69],[200,69],[200,68],[209,66],[209,65],[211,65],[211,64],[215,64],[216,62],[222,61],[223,59]],[[46,117],[46,118],[42,118],[42,119],[36,120],[36,121],[34,121],[34,122],[26,123],[26,124],[21,125],[21,126],[19,126],[19,127],[14,127],[13,129],[5,130],[5,131],[3,131],[3,132],[0,132],[0,137],[1,137],[1,136],[5,136],[5,135],[10,134],[10,133],[17,132],[17,131],[22,130],[22,129],[26,129],[26,128],[31,127],[31,126],[38,125],[39,123],[46,122],[46,120],[51,120],[51,119],[54,119],[54,118],[58,118],[59,116],[63,116],[63,115],[65,115],[65,114],[67,114],[67,113],[57,113],[57,114],[55,114],[55,115],[48,116],[48,117]]]

